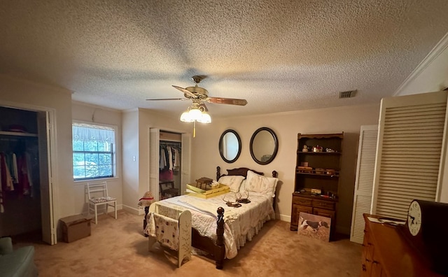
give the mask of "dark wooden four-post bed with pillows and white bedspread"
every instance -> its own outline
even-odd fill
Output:
[[[227,171],[227,174],[221,175],[221,168],[218,166],[216,180],[228,185],[230,192],[209,199],[190,195],[163,199],[151,204],[146,215],[146,221],[153,222],[155,205],[191,211],[192,246],[208,253],[216,262],[217,269],[223,269],[225,259],[235,257],[239,248],[246,241],[251,241],[265,222],[275,218],[274,199],[278,181],[276,171],[272,171],[272,177],[246,167]],[[250,203],[243,201],[238,208],[226,205],[226,201],[235,203],[237,198],[247,198]],[[154,226],[148,224],[145,234],[151,237],[154,232]]]

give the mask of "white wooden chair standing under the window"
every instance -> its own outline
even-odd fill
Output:
[[[98,222],[97,207],[101,205],[105,206],[106,214],[108,214],[107,210],[109,206],[113,207],[115,210],[115,219],[117,219],[117,199],[109,197],[106,181],[87,183],[87,195],[89,197],[89,214],[90,211],[94,212],[95,224]]]

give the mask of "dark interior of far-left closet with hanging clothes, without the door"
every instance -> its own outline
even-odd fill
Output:
[[[42,236],[37,113],[0,115],[0,236]]]

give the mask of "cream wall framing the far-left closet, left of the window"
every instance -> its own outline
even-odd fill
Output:
[[[55,224],[59,218],[76,214],[73,197],[71,154],[71,92],[60,87],[41,85],[8,76],[0,76],[0,105],[55,111],[55,168],[53,203]]]

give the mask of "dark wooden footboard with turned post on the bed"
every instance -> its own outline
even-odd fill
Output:
[[[192,228],[191,243],[192,246],[209,253],[216,262],[216,269],[223,269],[225,258],[224,246],[224,208],[219,207],[216,211],[218,220],[216,220],[216,242],[207,236],[201,236],[195,228]]]

